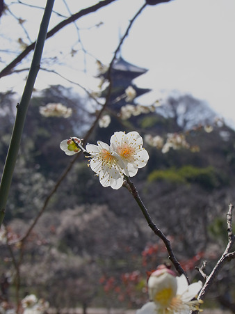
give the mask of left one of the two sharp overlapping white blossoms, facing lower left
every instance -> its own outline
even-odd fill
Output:
[[[98,145],[87,144],[86,151],[90,154],[90,168],[99,175],[103,187],[120,189],[123,184],[124,163],[108,144],[97,141]]]

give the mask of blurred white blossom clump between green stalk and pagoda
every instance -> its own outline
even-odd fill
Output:
[[[72,109],[60,103],[49,103],[46,106],[40,106],[39,112],[44,117],[68,118],[72,115]]]

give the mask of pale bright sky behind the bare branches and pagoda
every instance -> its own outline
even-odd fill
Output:
[[[27,0],[35,3],[38,0]],[[45,1],[40,0],[39,3]],[[79,11],[78,3],[88,7],[97,1],[67,0],[72,13]],[[143,6],[144,0],[119,0],[104,9],[83,17],[77,21],[83,47],[108,64],[113,57],[120,35],[126,30],[129,20]],[[13,7],[14,8],[14,7]],[[81,7],[82,8],[82,7]],[[17,9],[15,7],[15,9]],[[63,0],[56,0],[54,9],[67,14]],[[19,11],[18,11],[19,12]],[[42,10],[32,15],[32,9],[24,7],[22,18],[27,19],[25,26],[30,26],[30,35],[34,40],[38,33]],[[58,17],[51,19],[51,26],[60,21]],[[99,28],[86,30],[99,22]],[[36,25],[35,25],[36,24]],[[9,28],[7,27],[9,25]],[[12,21],[1,17],[0,27],[4,26],[6,37],[12,36]],[[18,26],[19,29],[19,26]],[[234,91],[235,91],[235,1],[234,0],[175,0],[161,3],[158,6],[147,6],[134,22],[128,38],[122,46],[122,57],[133,64],[147,68],[149,71],[136,79],[139,87],[152,88],[153,92],[139,98],[140,102],[151,103],[161,95],[161,91],[177,89],[192,93],[195,97],[206,100],[210,106],[235,125]],[[14,31],[15,36],[21,36]],[[17,37],[16,37],[17,38]],[[86,57],[88,72],[83,73],[84,56],[78,52],[73,58],[70,49],[77,42],[74,25],[65,27],[63,31],[47,40],[44,47],[45,56],[57,56],[55,66],[47,63],[48,69],[58,70],[60,74],[89,88],[95,88],[97,81],[94,58]],[[0,40],[3,40],[1,37]],[[79,49],[78,44],[74,49]],[[18,49],[13,41],[11,48]],[[0,45],[0,49],[1,45]],[[14,55],[8,55],[8,62]],[[61,67],[58,66],[61,64]],[[1,65],[1,63],[0,63]],[[43,65],[43,63],[42,63]],[[19,66],[24,68],[24,63]],[[17,74],[0,80],[0,88],[13,88],[20,93],[24,87],[22,77]],[[40,72],[36,82],[37,88],[47,84],[66,84],[58,77]]]

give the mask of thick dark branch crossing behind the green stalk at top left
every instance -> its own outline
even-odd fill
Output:
[[[47,38],[54,36],[55,33],[60,31],[60,29],[63,29],[63,27],[76,21],[76,19],[79,19],[80,17],[83,17],[84,15],[88,15],[92,12],[95,12],[95,11],[99,10],[100,8],[103,8],[104,6],[107,6],[108,4],[110,4],[114,1],[117,1],[117,0],[100,1],[99,3],[95,4],[95,6],[91,6],[90,8],[83,9],[83,10],[79,11],[78,13],[71,15],[67,19],[64,19],[62,22],[58,23],[53,29],[51,29],[51,31],[49,31],[47,33]],[[0,72],[0,78],[11,74],[13,72],[13,69],[15,68],[15,66],[18,63],[20,63],[29,54],[29,52],[31,52],[34,49],[35,43],[36,42],[32,42],[32,44],[29,45],[28,47],[26,47],[24,49],[24,51],[21,54],[19,54],[11,63],[6,65],[6,67],[3,68],[3,70],[1,70],[1,72]]]

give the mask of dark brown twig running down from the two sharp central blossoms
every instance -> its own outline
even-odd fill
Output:
[[[170,240],[168,240],[168,238],[165,237],[163,232],[159,228],[157,228],[156,225],[153,223],[152,218],[150,217],[147,208],[143,204],[143,201],[141,200],[141,198],[138,194],[138,191],[136,190],[136,187],[133,185],[133,182],[127,176],[125,176],[125,179],[126,179],[127,183],[124,183],[124,187],[126,187],[129,190],[129,192],[131,192],[131,194],[133,195],[133,198],[135,198],[136,203],[138,203],[140,210],[142,211],[149,227],[154,231],[155,235],[157,235],[158,237],[161,238],[161,240],[163,240],[163,242],[165,244],[165,248],[167,249],[168,254],[169,254],[168,258],[172,262],[172,264],[175,266],[175,269],[177,270],[178,274],[179,275],[184,274],[184,276],[186,276],[187,281],[189,283],[188,276],[187,276],[186,272],[184,272],[184,269],[181,267],[177,258],[175,257],[175,254],[172,251]]]

